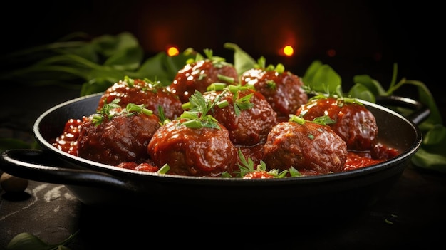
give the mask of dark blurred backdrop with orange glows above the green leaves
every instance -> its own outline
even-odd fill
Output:
[[[318,59],[341,75],[346,88],[357,74],[386,87],[398,63],[397,80],[422,81],[444,110],[440,9],[429,1],[12,1],[0,17],[1,53],[74,31],[93,37],[130,31],[147,56],[175,44],[180,51],[212,48],[228,58],[232,51],[223,44],[232,42],[297,75]],[[296,48],[292,58],[277,56],[285,43]]]

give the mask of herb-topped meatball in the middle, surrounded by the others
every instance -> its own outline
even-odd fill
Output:
[[[243,98],[249,97],[243,101]],[[229,131],[229,137],[236,146],[253,146],[264,143],[269,131],[277,124],[276,112],[266,101],[264,95],[256,90],[237,90],[236,93],[224,90],[209,91],[203,94],[204,98],[219,101],[227,101],[224,108],[217,106],[212,109],[212,116]],[[246,108],[239,108],[245,105]],[[246,105],[249,104],[249,107]],[[237,107],[234,107],[236,105]],[[239,110],[238,112],[236,109]]]

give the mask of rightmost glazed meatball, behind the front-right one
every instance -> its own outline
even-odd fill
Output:
[[[348,150],[372,150],[378,136],[375,116],[364,105],[345,98],[316,96],[297,110],[306,120],[328,115],[328,124],[347,143]]]

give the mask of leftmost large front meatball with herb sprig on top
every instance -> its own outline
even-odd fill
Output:
[[[157,115],[123,108],[83,117],[78,156],[115,166],[121,162],[143,162],[149,157],[147,145],[159,127]]]

